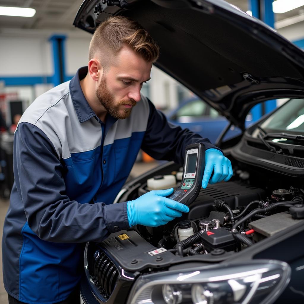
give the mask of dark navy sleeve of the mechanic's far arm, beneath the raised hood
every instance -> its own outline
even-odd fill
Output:
[[[188,129],[181,129],[168,122],[166,116],[155,109],[149,101],[150,115],[148,119],[147,131],[143,138],[141,148],[147,154],[158,160],[174,161],[177,164],[184,163],[186,146],[192,143],[203,143],[206,150],[217,148],[210,143],[208,138],[202,138],[197,133]],[[222,152],[222,150],[220,150]]]

